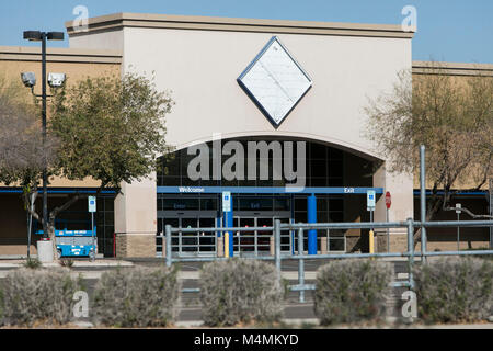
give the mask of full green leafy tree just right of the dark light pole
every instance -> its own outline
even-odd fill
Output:
[[[100,181],[96,195],[122,182],[139,180],[157,169],[158,157],[167,154],[165,114],[173,102],[168,92],[156,90],[153,81],[137,73],[87,78],[56,91],[48,135],[58,140],[51,174],[69,180],[88,177]],[[19,180],[15,176],[12,180]],[[39,182],[39,173],[31,179]],[[48,235],[54,246],[55,218],[87,194],[76,193],[50,210]],[[32,215],[43,223],[34,210]]]

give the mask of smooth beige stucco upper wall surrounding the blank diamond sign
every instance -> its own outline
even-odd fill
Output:
[[[290,135],[332,141],[365,154],[362,109],[411,67],[411,42],[395,38],[279,34],[313,87],[275,129],[236,79],[273,33],[125,29],[125,70],[156,72],[176,105],[168,141],[177,148],[239,135]],[[159,44],[158,44],[159,43]],[[156,45],[158,44],[158,45]],[[193,127],[191,127],[193,126]],[[180,133],[176,133],[179,132]]]

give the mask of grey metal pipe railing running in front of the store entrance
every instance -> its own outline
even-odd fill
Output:
[[[313,224],[284,224],[278,219],[275,220],[273,227],[231,227],[231,228],[173,228],[170,225],[165,226],[165,235],[158,236],[163,238],[165,242],[165,263],[168,267],[175,262],[211,262],[228,260],[225,257],[173,257],[171,248],[171,238],[173,233],[195,233],[195,231],[214,231],[214,233],[232,233],[232,231],[253,231],[253,230],[273,230],[274,231],[274,256],[257,256],[246,257],[246,259],[256,260],[273,260],[275,262],[277,272],[280,278],[280,263],[285,259],[298,260],[298,284],[288,285],[293,292],[299,292],[299,302],[305,302],[305,292],[316,288],[314,284],[305,283],[305,260],[330,260],[330,259],[377,259],[377,258],[408,258],[408,279],[404,281],[392,282],[393,287],[409,287],[414,288],[413,265],[415,258],[421,258],[425,262],[426,257],[435,256],[477,256],[477,254],[493,254],[493,250],[466,250],[466,251],[427,251],[426,237],[422,236],[421,251],[414,251],[414,228],[432,228],[432,227],[493,227],[493,220],[460,220],[460,222],[416,222],[408,218],[405,222],[379,222],[379,223],[313,223]],[[375,229],[375,228],[405,228],[408,237],[408,251],[403,252],[377,252],[377,253],[326,253],[326,254],[305,254],[303,248],[303,233],[309,229]],[[297,254],[280,251],[280,231],[282,230],[297,230],[298,233],[298,248]],[[422,235],[423,235],[422,230]],[[217,252],[217,250],[216,250]],[[199,292],[199,288],[184,288],[183,292],[193,293]]]

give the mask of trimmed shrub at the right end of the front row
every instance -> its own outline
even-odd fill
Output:
[[[471,322],[493,315],[493,262],[448,258],[414,269],[419,317],[425,322]]]

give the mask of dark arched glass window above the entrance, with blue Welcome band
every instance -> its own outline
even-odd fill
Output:
[[[366,193],[372,186],[375,165],[379,161],[374,155],[326,140],[267,134],[231,138],[221,135],[182,145],[162,157],[157,185],[158,192],[167,192],[170,186],[289,192],[286,188],[293,186],[298,192],[343,193],[347,191],[344,188],[351,188],[353,192],[358,189]]]

